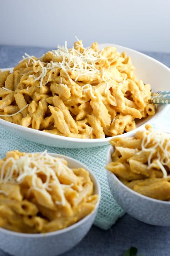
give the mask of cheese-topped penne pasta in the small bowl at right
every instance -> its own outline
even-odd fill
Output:
[[[142,82],[139,86],[144,88]],[[154,132],[151,125],[133,137],[113,138],[113,172],[130,189],[144,196],[170,201],[170,135]]]

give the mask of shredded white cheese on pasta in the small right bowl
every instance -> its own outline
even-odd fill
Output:
[[[148,169],[156,167],[157,164],[163,172],[164,178],[169,178],[165,165],[170,164],[170,134],[164,132],[143,132],[141,143],[142,151],[149,152]],[[156,163],[152,163],[152,157],[156,159]]]

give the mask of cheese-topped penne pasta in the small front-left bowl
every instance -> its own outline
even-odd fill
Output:
[[[46,151],[9,151],[0,160],[0,227],[4,229],[22,233],[64,229],[90,214],[97,201],[87,170],[71,169],[66,160]]]

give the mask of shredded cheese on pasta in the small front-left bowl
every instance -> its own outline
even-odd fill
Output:
[[[7,171],[5,172],[6,165],[9,165]],[[65,205],[66,200],[64,196],[64,186],[72,185],[63,185],[57,178],[55,169],[62,171],[63,169],[70,170],[63,162],[61,158],[56,158],[50,156],[47,151],[44,151],[41,154],[26,154],[21,156],[19,159],[14,159],[9,157],[5,160],[1,168],[0,183],[13,183],[19,184],[24,181],[27,176],[32,178],[32,187],[31,189],[38,190],[42,192],[42,188],[46,190],[51,190],[50,179],[52,178],[58,185],[58,188],[61,192],[62,201],[56,201],[56,204]],[[42,173],[46,176],[46,181],[42,183],[42,188],[37,187],[36,177],[38,173]],[[30,191],[29,191],[30,192]]]

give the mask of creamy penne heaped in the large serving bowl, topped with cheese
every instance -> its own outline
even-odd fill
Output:
[[[78,40],[73,48],[26,56],[11,74],[0,73],[2,119],[60,136],[105,138],[155,114],[151,86],[115,47],[99,50],[95,42],[84,48]]]

